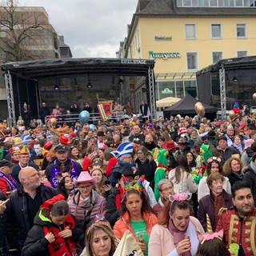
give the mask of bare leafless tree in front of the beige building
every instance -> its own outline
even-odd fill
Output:
[[[25,7],[26,8],[26,7]],[[33,45],[46,25],[46,18],[33,9],[18,7],[18,1],[5,0],[0,6],[0,59],[2,62],[37,58]]]

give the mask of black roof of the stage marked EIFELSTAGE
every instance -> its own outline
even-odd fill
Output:
[[[38,61],[10,62],[1,65],[21,78],[42,79],[72,77],[87,74],[119,76],[148,76],[154,60],[128,58],[58,58]]]

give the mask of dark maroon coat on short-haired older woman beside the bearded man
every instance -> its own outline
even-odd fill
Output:
[[[233,207],[231,194],[228,194],[228,193],[226,193],[225,190],[223,190],[223,198],[224,198],[224,202],[226,204],[226,208]],[[209,215],[211,226],[213,227],[213,230],[215,230],[218,223],[215,222],[214,196],[212,194],[208,194],[208,195],[204,196],[199,201],[198,220],[202,224],[202,227],[204,230],[206,230],[206,227],[207,227],[206,214]]]

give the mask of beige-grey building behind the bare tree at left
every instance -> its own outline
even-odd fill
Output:
[[[13,24],[10,25],[12,20]],[[22,38],[21,42],[16,42],[18,37]],[[50,25],[48,14],[43,7],[0,6],[0,64],[60,58],[59,45],[58,34]],[[14,98],[14,101],[18,99]],[[6,118],[7,115],[6,87],[1,75],[0,119]]]

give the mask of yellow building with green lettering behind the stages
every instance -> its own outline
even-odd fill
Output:
[[[198,97],[197,70],[256,54],[255,14],[251,0],[138,0],[119,55],[154,58],[156,99]],[[139,86],[131,92],[137,106]]]

